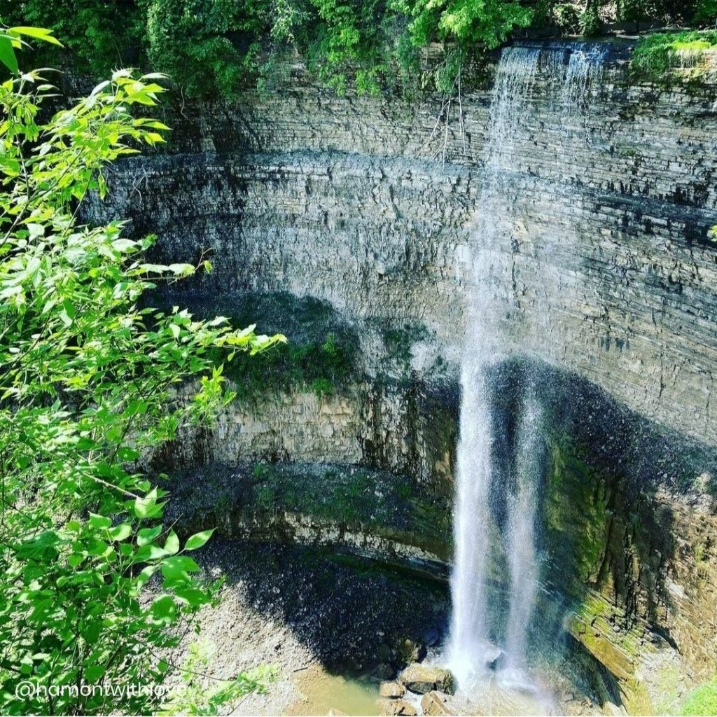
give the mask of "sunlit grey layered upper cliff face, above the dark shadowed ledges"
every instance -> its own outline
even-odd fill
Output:
[[[716,87],[630,84],[617,62],[587,113],[566,115],[559,92],[538,77],[513,151],[515,196],[499,212],[512,224],[495,247],[508,335],[717,445]],[[414,368],[439,354],[455,365],[488,100],[462,97],[465,132],[455,105],[445,129],[440,98],[342,98],[300,76],[184,108],[170,120],[173,153],[118,168],[110,211],[158,233],[175,260],[211,247],[215,270],[196,290],[331,301],[365,327],[374,372],[376,320],[424,324]]]

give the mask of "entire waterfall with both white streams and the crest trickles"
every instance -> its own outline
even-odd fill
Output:
[[[567,59],[569,58],[569,59]],[[567,62],[566,62],[567,59]],[[528,381],[519,402],[511,455],[500,455],[494,420],[496,367],[516,347],[501,330],[511,285],[505,280],[505,247],[511,243],[516,146],[526,133],[531,93],[546,73],[558,87],[561,120],[575,125],[584,96],[602,67],[599,46],[508,47],[498,64],[490,101],[483,189],[472,234],[470,305],[462,359],[462,404],[454,508],[453,603],[447,660],[459,687],[488,672],[504,651],[504,675],[526,680],[528,635],[539,584],[538,495],[541,489],[542,409]],[[585,128],[580,131],[587,132]],[[519,347],[518,347],[519,349]],[[501,462],[510,462],[505,470]],[[506,485],[505,475],[511,475]],[[500,519],[496,516],[499,512]],[[498,610],[490,603],[494,557],[503,556],[508,594]],[[494,569],[494,568],[493,568]],[[497,624],[498,623],[498,624]]]

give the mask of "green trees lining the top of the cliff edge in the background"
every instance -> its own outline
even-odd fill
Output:
[[[604,20],[709,26],[717,0],[0,0],[0,17],[51,27],[94,75],[148,65],[189,95],[232,97],[269,85],[291,52],[339,92],[412,92],[440,80],[419,72],[430,42],[465,66],[528,24],[556,34],[598,34]]]

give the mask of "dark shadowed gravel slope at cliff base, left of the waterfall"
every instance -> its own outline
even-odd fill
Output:
[[[218,538],[199,554],[246,604],[279,620],[334,673],[397,670],[405,640],[434,645],[447,629],[445,582],[420,578],[336,549]]]

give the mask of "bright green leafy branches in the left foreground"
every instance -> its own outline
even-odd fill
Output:
[[[4,29],[0,42],[13,52],[42,32]],[[148,308],[148,290],[195,267],[150,264],[152,237],[77,220],[88,192],[104,195],[109,162],[163,141],[165,125],[136,116],[162,77],[119,70],[52,115],[42,74],[0,85],[0,704],[145,713],[159,698],[141,688],[171,672],[161,653],[217,585],[191,557],[211,531],[182,544],[163,525],[166,493],[143,453],[232,399],[217,350],[230,360],[282,337]],[[27,699],[25,681],[39,688]],[[99,683],[133,691],[71,690]]]

